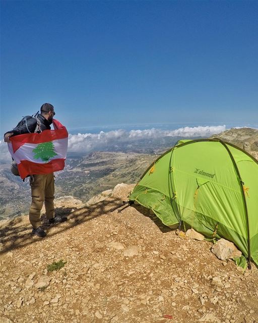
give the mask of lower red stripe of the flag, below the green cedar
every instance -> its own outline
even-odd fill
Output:
[[[49,174],[63,170],[64,160],[65,159],[63,158],[53,159],[47,164],[38,164],[29,160],[21,160],[21,163],[18,164],[18,170],[22,179],[28,175]]]

